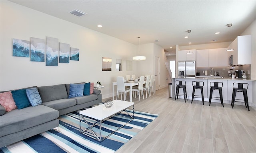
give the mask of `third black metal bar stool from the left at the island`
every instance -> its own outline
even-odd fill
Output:
[[[222,86],[223,86],[223,82],[210,82],[210,99],[209,99],[209,106],[211,105],[211,101],[212,99],[216,99],[218,98],[217,100],[220,100],[222,106],[224,107],[224,104],[223,104],[223,96],[222,96]],[[219,90],[219,94],[220,94],[220,97],[214,97],[212,98],[212,92],[213,90]]]

